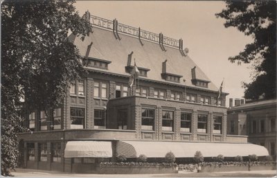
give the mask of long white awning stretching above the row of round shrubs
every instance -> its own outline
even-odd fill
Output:
[[[192,143],[192,142],[162,142],[162,141],[118,141],[116,155],[125,157],[165,157],[167,152],[173,152],[175,157],[194,157],[196,151],[202,152],[204,157],[244,157],[256,154],[258,157],[267,156],[269,152],[260,145],[250,143]]]

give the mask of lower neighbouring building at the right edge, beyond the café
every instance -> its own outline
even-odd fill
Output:
[[[262,145],[276,159],[276,99],[256,100],[227,111],[227,133],[248,136],[248,142]]]

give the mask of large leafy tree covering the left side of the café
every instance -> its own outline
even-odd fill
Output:
[[[68,38],[84,38],[91,24],[75,12],[74,1],[1,3],[1,175],[17,166],[17,107],[41,109],[53,118],[69,84],[84,74],[82,56]]]

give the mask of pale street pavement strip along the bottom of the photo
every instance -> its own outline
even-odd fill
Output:
[[[176,174],[103,175],[17,168],[15,171],[12,171],[12,175],[15,177],[276,177],[277,173],[276,170],[251,170],[233,172],[179,171]]]

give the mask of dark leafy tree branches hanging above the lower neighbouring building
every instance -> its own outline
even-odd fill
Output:
[[[252,63],[252,81],[242,86],[244,97],[276,98],[276,1],[226,1],[226,9],[216,17],[226,19],[226,28],[236,27],[253,37],[244,51],[229,57],[232,63]]]

